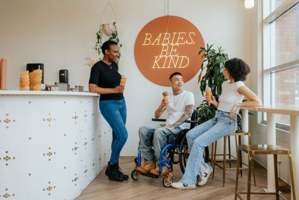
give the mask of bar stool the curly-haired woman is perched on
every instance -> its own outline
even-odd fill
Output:
[[[231,148],[230,148],[230,136],[235,136],[235,144],[236,144],[236,153],[238,152],[238,141],[237,141],[237,136],[239,140],[239,145],[241,145],[241,136],[248,136],[248,143],[251,144],[251,133],[250,132],[236,132],[236,133],[231,133],[227,136],[224,136],[224,147],[223,147],[223,154],[216,154],[217,151],[217,141],[215,142],[215,149],[214,149],[214,143],[212,143],[212,156],[211,156],[211,166],[213,168],[213,175],[212,178],[214,178],[214,172],[215,172],[215,166],[218,166],[223,170],[223,175],[222,175],[222,182],[223,186],[225,184],[225,173],[227,170],[237,170],[237,168],[232,168],[231,163],[237,163],[237,158],[231,154]],[[228,138],[228,154],[226,154],[226,141]],[[214,159],[213,159],[214,156]],[[223,156],[223,159],[216,159],[216,156]],[[229,159],[226,159],[226,157],[229,157]],[[242,177],[242,170],[247,170],[247,167],[244,168],[242,165],[247,166],[242,162],[242,155],[241,156],[241,161],[240,161],[240,169],[241,169],[241,177]],[[233,159],[232,159],[233,158]],[[218,163],[222,163],[222,165],[219,165]],[[229,163],[229,168],[226,168],[226,164]],[[254,185],[256,185],[256,180],[255,180],[255,172],[254,172],[254,165],[253,165],[253,160],[252,160],[252,172],[253,172],[253,178],[254,178]]]

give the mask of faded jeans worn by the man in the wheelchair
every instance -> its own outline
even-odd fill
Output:
[[[142,126],[139,128],[139,148],[146,162],[156,161],[159,164],[160,153],[166,145],[166,136],[178,134],[182,129],[177,127],[173,130],[163,128],[163,125]],[[150,144],[150,136],[153,134],[152,146]],[[163,161],[168,162],[166,154],[163,156]]]

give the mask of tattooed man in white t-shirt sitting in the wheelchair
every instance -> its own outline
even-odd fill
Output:
[[[169,84],[172,87],[172,92],[168,95],[169,100],[162,100],[154,112],[154,117],[159,118],[163,112],[167,111],[166,123],[139,128],[139,148],[145,162],[143,167],[137,167],[136,170],[143,174],[159,176],[160,152],[166,145],[166,136],[178,134],[181,130],[190,128],[190,124],[185,123],[185,121],[190,119],[193,113],[194,95],[191,92],[182,90],[184,81],[182,74],[179,72],[170,75]],[[151,144],[150,137],[152,134],[153,140]],[[168,162],[165,154],[163,161]],[[167,167],[163,166],[161,175],[165,176],[167,174]]]

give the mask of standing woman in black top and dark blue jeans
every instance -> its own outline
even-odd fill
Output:
[[[120,85],[121,74],[118,73],[116,61],[119,57],[118,43],[108,40],[102,45],[104,57],[90,71],[89,92],[101,94],[100,111],[112,128],[111,158],[105,175],[112,181],[129,179],[119,167],[120,153],[127,141],[126,129],[127,107]]]

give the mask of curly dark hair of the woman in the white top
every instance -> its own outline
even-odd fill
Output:
[[[230,76],[237,81],[245,81],[250,73],[248,64],[240,58],[232,58],[225,62],[224,68],[228,70]]]

